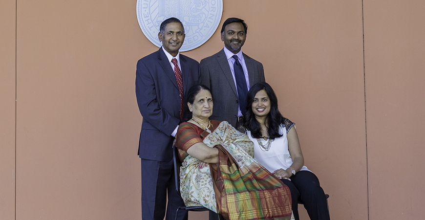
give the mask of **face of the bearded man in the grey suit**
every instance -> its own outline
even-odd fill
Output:
[[[236,54],[245,44],[246,33],[245,27],[240,22],[233,22],[224,27],[224,32],[221,34],[221,41],[224,46],[232,53]]]

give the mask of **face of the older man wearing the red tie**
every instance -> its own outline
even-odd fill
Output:
[[[164,34],[158,33],[158,39],[164,49],[175,57],[185,40],[183,27],[178,22],[171,22],[165,26]]]

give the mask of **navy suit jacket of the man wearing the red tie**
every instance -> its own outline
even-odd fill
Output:
[[[200,83],[200,67],[197,61],[180,54],[180,68],[186,94],[191,86]],[[162,48],[137,62],[136,97],[143,117],[140,158],[172,159],[171,133],[181,122],[179,95],[174,70]]]

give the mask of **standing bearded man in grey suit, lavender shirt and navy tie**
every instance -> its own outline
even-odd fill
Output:
[[[209,87],[214,99],[211,119],[228,121],[235,128],[243,124],[246,94],[251,86],[265,82],[263,65],[242,53],[247,24],[227,19],[221,28],[224,48],[201,60],[201,83]]]

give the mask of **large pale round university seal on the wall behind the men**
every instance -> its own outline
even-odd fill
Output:
[[[207,42],[218,27],[223,14],[223,0],[137,0],[137,21],[143,34],[156,46],[159,26],[164,20],[178,18],[185,27],[185,42],[180,52]]]

